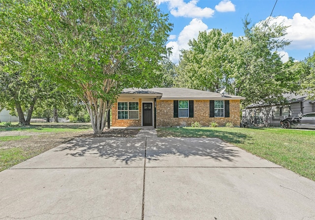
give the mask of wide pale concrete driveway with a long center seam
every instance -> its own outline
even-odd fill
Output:
[[[78,138],[0,172],[0,219],[311,220],[315,182],[216,138]]]

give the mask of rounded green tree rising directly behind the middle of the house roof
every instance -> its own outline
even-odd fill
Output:
[[[190,49],[182,51],[175,86],[211,92],[222,88],[231,74],[232,33],[202,31],[188,44]]]

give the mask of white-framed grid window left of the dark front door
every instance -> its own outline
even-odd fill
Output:
[[[118,102],[118,119],[139,119],[139,103]]]

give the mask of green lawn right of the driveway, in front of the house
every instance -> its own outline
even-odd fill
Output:
[[[315,181],[315,130],[239,127],[159,128],[159,137],[217,137]]]

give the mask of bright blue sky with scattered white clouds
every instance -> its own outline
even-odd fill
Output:
[[[172,48],[171,61],[178,63],[180,50],[189,49],[189,39],[197,39],[199,31],[221,29],[234,37],[244,35],[243,20],[255,25],[268,20],[283,22],[289,46],[278,53],[283,62],[289,57],[302,61],[315,51],[315,0],[157,0],[163,13],[168,13],[173,30],[167,47]],[[273,9],[274,8],[274,9]],[[272,14],[271,14],[272,13]]]

